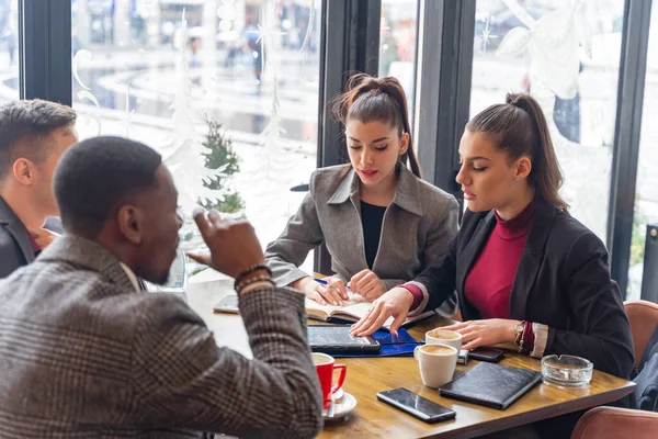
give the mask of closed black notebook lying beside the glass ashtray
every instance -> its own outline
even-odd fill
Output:
[[[439,389],[439,393],[503,410],[540,381],[541,372],[483,362]]]

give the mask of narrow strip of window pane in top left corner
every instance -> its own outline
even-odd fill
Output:
[[[0,0],[0,103],[20,95],[18,7],[18,0]]]

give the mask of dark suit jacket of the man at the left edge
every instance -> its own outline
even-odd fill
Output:
[[[0,196],[0,278],[34,260],[27,229]]]

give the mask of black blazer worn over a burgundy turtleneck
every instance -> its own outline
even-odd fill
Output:
[[[510,296],[510,318],[547,325],[546,354],[568,353],[627,379],[633,339],[603,243],[568,213],[535,201],[536,209]],[[415,281],[427,286],[427,308],[454,289],[464,320],[481,318],[464,297],[464,282],[496,226],[494,212],[466,211],[450,251]]]

